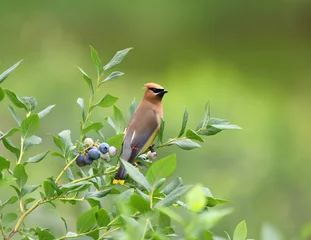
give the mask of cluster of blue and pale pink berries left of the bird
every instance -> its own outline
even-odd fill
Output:
[[[117,154],[117,149],[114,146],[109,146],[108,143],[94,143],[92,138],[86,138],[84,144],[86,148],[83,153],[75,152],[75,156],[78,156],[76,164],[79,167],[91,165],[94,160],[99,158],[109,161],[110,157]]]

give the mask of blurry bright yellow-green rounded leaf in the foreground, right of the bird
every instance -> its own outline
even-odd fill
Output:
[[[195,213],[201,212],[207,203],[205,193],[201,185],[195,185],[186,194],[187,207]]]

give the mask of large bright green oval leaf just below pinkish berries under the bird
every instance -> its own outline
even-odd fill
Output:
[[[146,173],[146,178],[153,186],[159,179],[170,176],[175,168],[176,154],[172,154],[153,163]]]

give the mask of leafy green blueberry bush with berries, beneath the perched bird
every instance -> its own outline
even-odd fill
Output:
[[[84,99],[77,99],[81,107],[79,139],[72,141],[71,131],[68,129],[50,134],[55,144],[51,149],[54,150],[38,152],[28,159],[25,158],[25,152],[30,148],[35,149],[42,142],[36,135],[40,122],[44,121],[55,106],[50,105],[37,111],[34,97],[19,97],[3,87],[4,81],[22,61],[0,75],[0,102],[4,98],[9,100],[8,110],[16,125],[11,129],[1,129],[3,126],[0,125],[1,148],[7,150],[6,156],[9,156],[0,156],[0,192],[4,188],[14,189],[14,194],[8,199],[3,199],[0,195],[2,238],[245,240],[245,221],[237,225],[233,236],[224,232],[220,237],[211,231],[221,218],[232,212],[231,208],[217,208],[218,205],[227,203],[227,200],[214,197],[207,187],[200,184],[184,185],[181,177],[170,177],[177,164],[175,154],[156,160],[156,151],[161,148],[177,145],[184,150],[192,150],[200,147],[206,136],[240,128],[226,120],[210,117],[207,103],[203,120],[196,128],[187,128],[188,112],[185,109],[181,130],[176,137],[163,140],[165,124],[162,120],[156,144],[150,148],[151,151],[137,158],[135,166],[118,159],[126,127],[125,119],[115,105],[118,97],[106,94],[100,98],[98,90],[106,82],[123,75],[122,72],[111,69],[122,62],[131,48],[118,51],[104,66],[96,50],[93,47],[90,49],[97,78],[91,79],[78,68],[89,88],[87,104]],[[92,121],[95,108],[113,109],[113,117],[103,119],[115,130],[113,136],[104,135],[103,122]],[[25,112],[24,117],[18,114],[17,109]],[[136,102],[133,101],[129,107],[130,115],[135,109]],[[90,133],[96,133],[98,139],[90,138]],[[19,139],[18,144],[16,139]],[[33,164],[43,160],[50,164],[48,162],[53,157],[62,159],[63,169],[59,173],[49,173],[51,175],[41,183],[29,185],[28,172]],[[122,186],[112,184],[119,164],[124,164],[128,172],[126,183]],[[147,169],[145,174],[141,168]],[[103,207],[106,199],[111,201],[112,207]],[[72,228],[72,222],[67,224],[68,216],[60,217],[63,229],[42,228],[39,222],[36,227],[27,226],[25,219],[34,210],[45,204],[56,207],[56,202],[68,206],[84,204],[88,208],[75,220],[75,228]],[[18,210],[12,212],[12,205]]]

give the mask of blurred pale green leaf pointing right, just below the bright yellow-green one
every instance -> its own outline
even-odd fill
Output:
[[[199,215],[199,222],[204,224],[206,229],[210,229],[230,213],[232,213],[232,209],[210,209],[209,211],[203,212]]]

